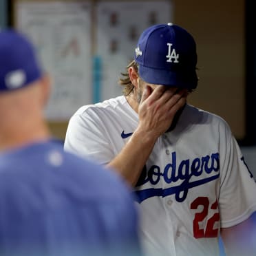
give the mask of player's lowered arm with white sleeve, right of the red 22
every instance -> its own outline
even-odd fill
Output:
[[[227,124],[221,138],[219,208],[226,255],[255,255],[255,180]]]

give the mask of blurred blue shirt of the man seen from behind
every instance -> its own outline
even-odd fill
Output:
[[[0,153],[0,255],[140,255],[137,224],[118,175],[60,143]]]

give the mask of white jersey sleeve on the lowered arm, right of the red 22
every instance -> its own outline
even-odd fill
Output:
[[[226,127],[226,135],[220,144],[221,227],[228,228],[248,219],[256,211],[256,183],[229,127]]]

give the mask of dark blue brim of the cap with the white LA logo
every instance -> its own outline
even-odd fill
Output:
[[[186,89],[195,89],[198,85],[198,76],[195,70],[173,72],[169,70],[157,70],[151,67],[139,65],[138,72],[145,82],[155,85],[167,85],[170,87]]]

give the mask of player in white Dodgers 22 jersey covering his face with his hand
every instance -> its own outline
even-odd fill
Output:
[[[227,123],[186,103],[196,64],[184,28],[147,28],[120,79],[124,95],[78,109],[65,150],[134,186],[146,255],[219,255],[220,235],[227,255],[255,255],[255,180]]]

